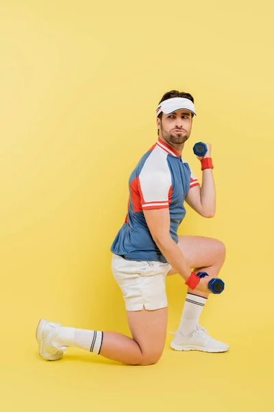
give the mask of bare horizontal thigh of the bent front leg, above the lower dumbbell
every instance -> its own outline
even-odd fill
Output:
[[[225,245],[214,238],[179,236],[178,246],[190,268],[216,266],[217,275],[225,260]],[[175,273],[177,271],[171,268],[168,275],[175,275]]]

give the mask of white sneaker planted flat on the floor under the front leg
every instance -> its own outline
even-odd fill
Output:
[[[171,347],[174,350],[201,350],[201,352],[227,352],[229,350],[228,345],[211,338],[208,331],[199,323],[190,336],[183,336],[179,330],[176,330]]]

